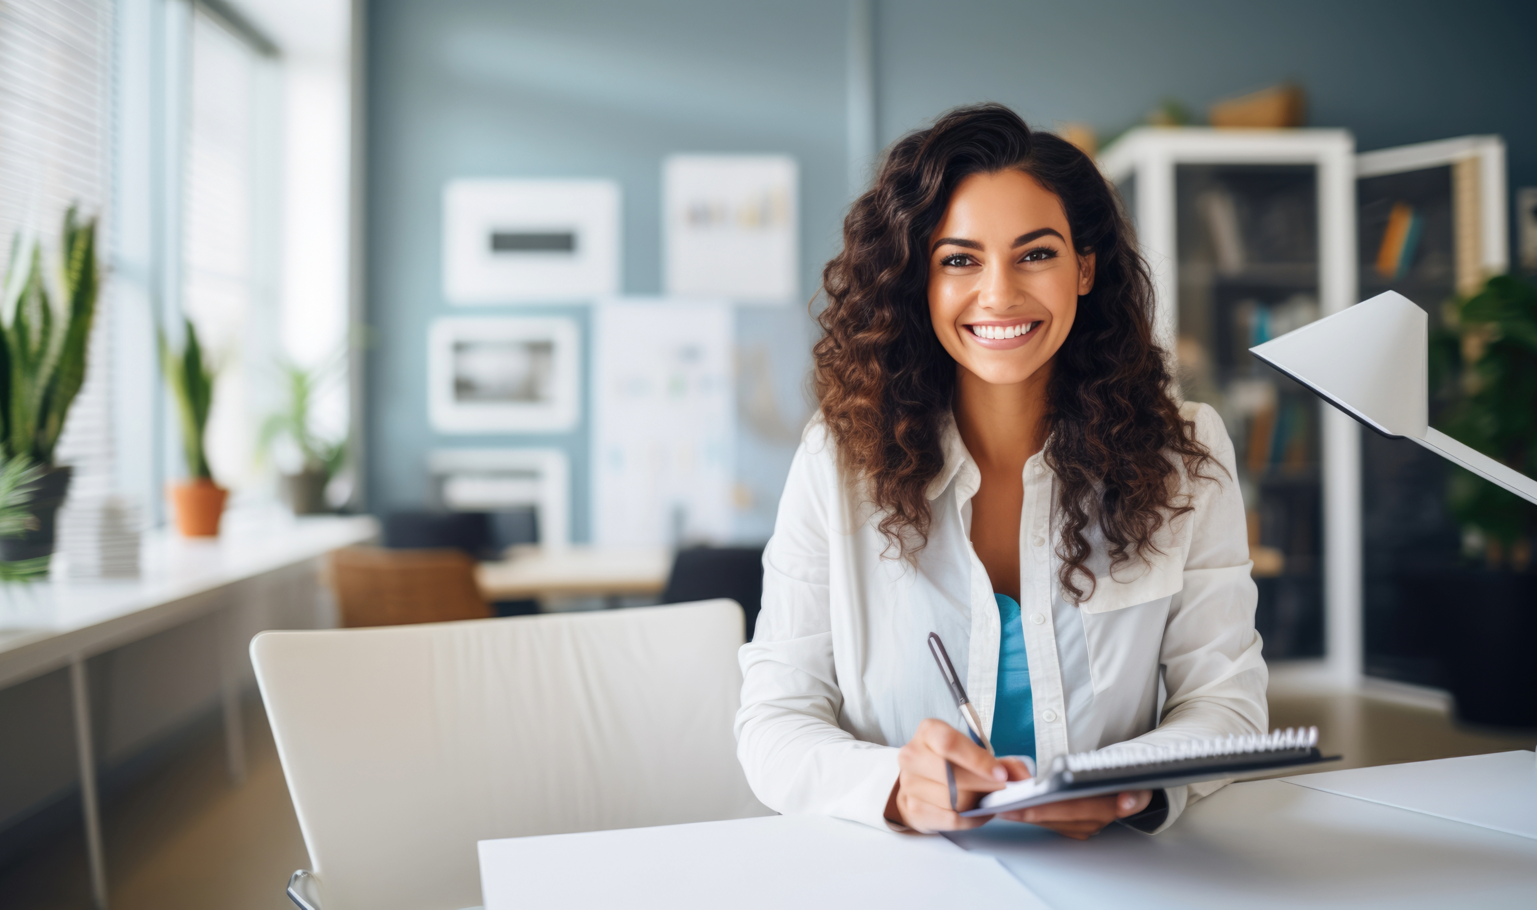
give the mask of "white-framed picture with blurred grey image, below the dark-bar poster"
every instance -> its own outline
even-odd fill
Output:
[[[427,410],[438,433],[563,433],[581,417],[573,319],[447,316],[427,333]]]

